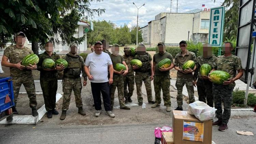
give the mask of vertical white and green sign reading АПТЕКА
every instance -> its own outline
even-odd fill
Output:
[[[224,19],[225,6],[211,9],[208,43],[212,46],[222,46]]]

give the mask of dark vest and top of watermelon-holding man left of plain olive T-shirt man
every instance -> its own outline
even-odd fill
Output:
[[[150,62],[152,61],[152,57],[150,54],[148,54],[147,52],[144,55],[136,54],[133,57],[133,59],[138,59],[142,62],[141,68],[134,70],[135,72],[151,73],[151,63]]]

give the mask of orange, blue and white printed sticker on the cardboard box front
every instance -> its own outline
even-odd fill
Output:
[[[203,142],[203,123],[183,121],[183,140]]]

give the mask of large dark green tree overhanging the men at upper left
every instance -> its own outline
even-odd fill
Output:
[[[48,40],[61,44],[81,43],[85,37],[75,38],[81,16],[88,18],[104,9],[90,9],[92,0],[2,0],[0,2],[0,48],[16,32],[23,31],[32,41],[32,50],[38,54]],[[100,0],[96,0],[100,2]]]

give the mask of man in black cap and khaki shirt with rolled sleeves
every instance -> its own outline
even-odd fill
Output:
[[[174,68],[177,70],[177,80],[176,80],[176,88],[177,88],[177,104],[178,107],[175,110],[182,111],[182,104],[183,104],[183,95],[182,90],[183,86],[186,85],[187,91],[188,91],[188,98],[189,103],[193,103],[195,101],[194,98],[194,87],[193,87],[193,72],[196,69],[196,66],[194,69],[189,70],[182,70],[183,64],[188,60],[193,60],[196,62],[196,55],[193,52],[189,52],[187,50],[187,43],[186,41],[180,42],[180,48],[181,52],[178,53],[175,56],[174,60]],[[194,80],[196,81],[196,80]]]

